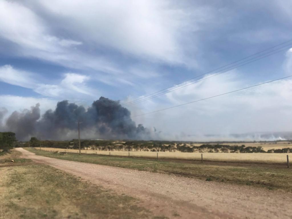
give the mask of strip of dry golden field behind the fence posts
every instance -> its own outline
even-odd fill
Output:
[[[36,148],[38,149],[38,148]],[[69,152],[79,153],[79,150],[61,149],[61,148],[41,148],[41,150],[51,152]],[[81,150],[82,154],[98,154],[128,157],[126,151],[97,151],[97,150]],[[255,163],[286,163],[286,155],[284,153],[203,153],[203,159],[206,161],[228,161],[228,162],[255,162]],[[289,154],[290,155],[290,154]],[[137,152],[131,151],[130,157],[146,157],[156,158],[157,152]],[[183,153],[183,152],[158,152],[159,158],[164,159],[187,159],[200,160],[201,153]],[[292,157],[292,156],[291,156]],[[292,158],[291,158],[292,159]]]

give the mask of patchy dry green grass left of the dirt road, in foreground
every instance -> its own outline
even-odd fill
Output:
[[[0,218],[153,218],[139,201],[46,165],[0,168]]]

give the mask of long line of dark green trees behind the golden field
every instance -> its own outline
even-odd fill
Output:
[[[81,140],[81,149],[100,151],[152,151],[152,152],[209,152],[209,153],[291,153],[292,148],[272,149],[267,152],[261,146],[246,147],[245,145],[202,144],[174,141],[114,141],[114,140]],[[78,139],[70,141],[39,141],[31,138],[23,147],[53,147],[78,149]]]

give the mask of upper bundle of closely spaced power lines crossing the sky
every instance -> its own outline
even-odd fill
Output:
[[[149,94],[149,95],[143,96],[143,97],[141,97],[141,98],[138,98],[138,99],[136,99],[136,100],[130,101],[130,102],[126,103],[123,107],[125,107],[125,106],[130,106],[130,105],[134,105],[134,104],[139,103],[139,102],[142,102],[142,101],[144,101],[144,100],[146,100],[146,99],[149,100],[149,98],[152,98],[153,96],[156,97],[156,95],[159,96],[160,94],[162,95],[162,94],[164,94],[165,92],[166,92],[166,93],[169,93],[169,92],[168,92],[168,91],[170,91],[170,90],[168,90],[169,88],[172,88],[172,87],[174,87],[174,88],[178,88],[178,87],[180,87],[180,86],[185,85],[185,84],[183,84],[183,83],[185,83],[185,82],[187,82],[187,81],[190,81],[190,82],[188,82],[188,83],[191,83],[192,81],[194,81],[193,79],[196,79],[196,78],[201,77],[201,76],[203,76],[203,75],[209,74],[209,73],[211,73],[211,72],[213,72],[213,71],[216,71],[216,70],[219,70],[219,69],[221,69],[220,71],[224,71],[224,70],[229,69],[229,68],[234,67],[234,66],[236,66],[236,67],[234,67],[234,68],[237,68],[237,67],[242,66],[242,65],[240,65],[240,64],[242,64],[242,63],[244,63],[244,62],[251,61],[251,60],[256,59],[256,58],[258,58],[258,57],[260,57],[260,56],[267,55],[268,53],[272,53],[272,54],[269,54],[269,55],[267,55],[267,56],[274,55],[274,54],[276,54],[276,53],[278,53],[278,52],[283,51],[283,50],[280,50],[280,51],[277,51],[277,50],[282,49],[282,48],[284,48],[284,47],[286,48],[287,46],[291,46],[291,43],[290,43],[291,41],[292,41],[292,39],[291,39],[291,40],[288,40],[288,41],[286,41],[286,42],[284,42],[284,43],[278,44],[278,45],[276,45],[276,46],[270,47],[270,48],[268,48],[268,49],[265,49],[265,50],[263,50],[263,51],[260,51],[260,52],[258,52],[258,53],[255,53],[255,54],[253,54],[253,55],[249,55],[249,56],[247,56],[247,57],[245,57],[245,58],[243,58],[243,59],[237,60],[237,61],[235,61],[235,62],[232,62],[232,63],[228,64],[228,65],[224,65],[224,66],[222,66],[222,67],[220,67],[220,68],[217,68],[217,69],[214,69],[214,70],[209,71],[209,72],[207,72],[207,73],[204,73],[204,74],[201,74],[201,75],[199,75],[199,76],[193,77],[193,78],[188,79],[188,80],[186,80],[186,81],[183,81],[183,82],[181,82],[181,83],[179,83],[179,84],[175,84],[175,85],[170,86],[170,87],[168,87],[168,88],[162,89],[162,90],[160,90],[160,91],[157,91],[157,92],[154,92],[154,93],[152,93],[152,94]],[[289,43],[289,44],[287,44],[287,43]],[[284,45],[284,44],[287,44],[287,45]],[[282,47],[280,47],[280,48],[277,48],[277,49],[275,49],[275,50],[273,50],[273,51],[269,51],[269,52],[267,52],[267,53],[265,53],[265,54],[261,54],[261,55],[259,55],[259,56],[257,56],[257,57],[253,57],[253,56],[255,56],[255,55],[258,55],[258,54],[263,53],[263,52],[265,52],[265,51],[271,50],[272,48],[279,47],[279,46],[281,46],[281,45],[284,45],[284,46],[282,46]],[[276,51],[276,52],[275,52],[275,51]],[[275,53],[273,53],[273,52],[275,52]],[[262,57],[262,58],[266,58],[267,56]],[[248,59],[248,58],[250,58],[250,57],[253,57],[253,58],[251,58],[251,59],[249,59],[249,60],[246,60],[246,59]],[[237,62],[240,62],[240,61],[242,61],[242,60],[245,60],[245,61],[244,61],[244,62],[241,62],[241,63],[237,63]],[[259,60],[259,59],[257,59],[257,60]],[[251,62],[253,62],[253,61],[251,61]],[[248,62],[248,63],[251,63],[251,62]],[[234,63],[237,63],[237,64],[236,64],[236,65],[232,65],[232,64],[234,64]],[[248,63],[246,63],[246,64],[248,64]],[[232,66],[230,66],[230,65],[232,65]],[[237,66],[237,65],[240,65],[240,66]],[[227,66],[229,66],[229,67],[227,67]],[[227,68],[222,69],[222,68],[224,68],[224,67],[227,67]],[[234,69],[234,68],[232,68],[232,69]],[[229,70],[227,70],[227,71],[230,71],[230,70],[232,70],[232,69],[229,69]],[[220,72],[220,71],[218,71],[218,72]],[[215,73],[218,73],[218,72],[215,72]],[[225,72],[226,72],[226,71],[225,71]],[[215,73],[213,73],[213,74],[215,74]],[[223,73],[223,72],[222,72],[222,73]],[[186,84],[188,84],[188,83],[186,83]],[[180,84],[182,84],[182,85],[180,85]],[[178,85],[180,85],[180,86],[178,86]],[[177,86],[178,86],[178,87],[177,87]],[[174,89],[174,88],[172,88],[172,89]],[[171,89],[171,90],[172,90],[172,89]],[[164,92],[160,93],[161,91],[164,91]],[[155,94],[155,95],[154,95],[154,94]],[[137,102],[137,101],[138,101],[138,102]]]

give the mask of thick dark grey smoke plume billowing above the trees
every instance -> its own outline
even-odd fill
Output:
[[[43,115],[39,106],[36,104],[30,110],[15,111],[6,121],[2,121],[5,109],[0,110],[1,130],[15,132],[18,140],[28,140],[32,136],[65,140],[77,138],[77,123],[80,121],[82,138],[150,139],[150,130],[142,124],[136,126],[130,111],[119,101],[100,97],[86,109],[63,100],[57,103],[55,110],[49,109]]]

